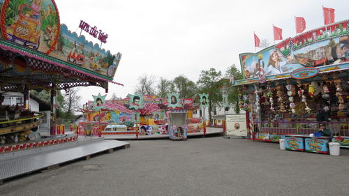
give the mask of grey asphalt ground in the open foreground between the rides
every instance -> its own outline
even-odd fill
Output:
[[[6,181],[0,195],[349,195],[341,156],[281,151],[222,137],[138,140],[45,173]]]

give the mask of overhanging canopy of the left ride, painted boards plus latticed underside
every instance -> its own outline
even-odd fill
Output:
[[[112,55],[84,36],[68,31],[66,25],[59,23],[53,0],[5,0],[0,1],[0,6],[1,89],[16,90],[22,88],[22,84],[27,84],[29,89],[75,86],[107,89],[108,82],[119,84],[112,79],[121,54]],[[93,30],[94,35],[105,39],[104,33],[98,35],[98,31]]]

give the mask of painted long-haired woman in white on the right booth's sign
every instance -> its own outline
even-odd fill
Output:
[[[269,61],[267,66],[267,75],[276,75],[280,73],[285,73],[288,71],[288,68],[285,66],[287,61],[283,61],[279,52],[272,50],[269,52]]]

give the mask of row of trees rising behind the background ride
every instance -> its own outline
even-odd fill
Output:
[[[184,75],[174,77],[172,80],[160,77],[156,80],[154,75],[144,74],[138,78],[138,84],[134,93],[142,95],[158,96],[167,98],[168,93],[177,93],[179,98],[194,98],[198,102],[198,93],[209,94],[209,119],[211,119],[211,111],[213,107],[223,107],[222,91],[225,90],[228,95],[228,103],[233,107],[235,112],[239,112],[237,88],[232,87],[230,78],[235,80],[242,79],[242,73],[232,65],[223,74],[220,70],[209,68],[202,70],[198,81],[193,82]]]

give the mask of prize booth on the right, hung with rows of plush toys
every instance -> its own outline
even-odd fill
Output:
[[[286,149],[328,153],[332,140],[348,146],[349,20],[240,54],[239,107],[253,140]]]

